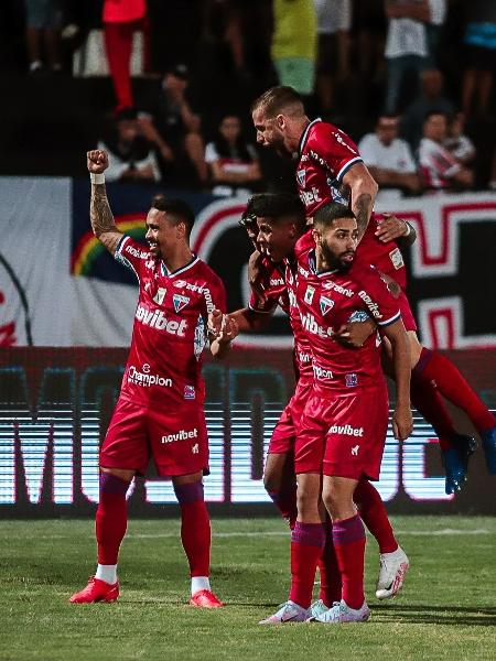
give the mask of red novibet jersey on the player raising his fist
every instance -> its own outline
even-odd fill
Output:
[[[162,260],[128,236],[115,257],[136,273],[140,285],[120,397],[154,408],[173,409],[184,400],[202,405],[207,316],[214,308],[226,311],[220,279],[197,257],[170,273]]]

